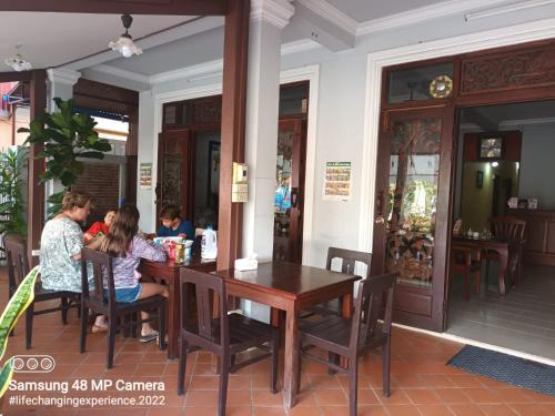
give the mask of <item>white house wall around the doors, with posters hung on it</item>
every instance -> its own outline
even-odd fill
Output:
[[[313,219],[311,265],[325,264],[326,250],[330,245],[359,248],[367,54],[541,18],[539,11],[533,10],[472,22],[464,22],[462,16],[454,16],[413,27],[371,33],[357,39],[355,48],[349,51],[332,53],[319,47],[282,57],[282,70],[320,64],[315,169],[314,172],[306,172],[306,175],[315,177],[314,210],[312,213],[305,212],[305,215],[312,215]],[[152,92],[170,93],[198,87],[202,89],[203,85],[218,82],[221,82],[219,75],[211,75],[200,82],[178,80],[157,84]],[[139,163],[149,161],[155,164],[153,113],[159,110],[153,108],[151,92],[141,93],[140,108]],[[326,161],[352,162],[353,195],[349,202],[322,201],[323,171]],[[142,214],[141,226],[144,230],[152,230],[152,215],[147,214],[148,206],[152,204],[152,195],[138,190],[138,202]]]

